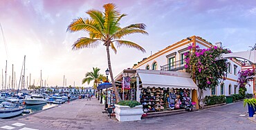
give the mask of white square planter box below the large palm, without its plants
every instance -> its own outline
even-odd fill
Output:
[[[143,105],[138,105],[133,108],[121,105],[115,105],[115,107],[116,119],[120,122],[141,120],[140,118],[144,113]]]

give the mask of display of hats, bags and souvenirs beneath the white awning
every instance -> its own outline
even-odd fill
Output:
[[[190,90],[147,87],[141,90],[140,102],[144,112],[173,109],[192,110]]]

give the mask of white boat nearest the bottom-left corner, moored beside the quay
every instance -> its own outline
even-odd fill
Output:
[[[17,109],[0,109],[0,118],[9,118],[17,116],[24,111],[24,108]]]

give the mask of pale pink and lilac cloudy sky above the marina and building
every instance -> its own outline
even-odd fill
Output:
[[[125,37],[144,47],[146,53],[127,47],[118,48],[117,54],[111,52],[114,76],[188,36],[201,36],[211,43],[220,41],[232,52],[250,50],[249,46],[256,43],[255,0],[1,0],[0,69],[3,69],[3,80],[7,60],[7,85],[12,76],[12,64],[19,84],[26,55],[28,84],[31,74],[30,83],[35,80],[35,85],[40,85],[42,70],[42,79],[49,87],[63,86],[64,76],[66,86],[91,86],[92,83],[82,85],[82,78],[93,67],[105,74],[105,46],[72,50],[73,43],[88,34],[66,32],[66,29],[73,19],[89,17],[85,13],[87,10],[104,11],[102,6],[106,3],[115,3],[117,10],[128,14],[120,21],[120,27],[145,23],[149,33]],[[1,74],[0,80],[2,82]]]

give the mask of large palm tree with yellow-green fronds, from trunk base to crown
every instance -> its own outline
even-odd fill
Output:
[[[122,40],[123,36],[141,33],[147,34],[145,31],[146,25],[144,23],[135,23],[120,28],[120,19],[127,16],[127,14],[120,14],[116,10],[116,5],[113,3],[107,3],[103,6],[104,12],[99,10],[88,10],[86,13],[89,14],[90,18],[78,18],[75,19],[70,25],[68,25],[67,31],[77,32],[86,31],[89,32],[89,37],[81,37],[73,44],[73,50],[82,49],[85,47],[96,47],[100,43],[106,46],[107,50],[107,61],[109,66],[109,73],[113,84],[113,89],[117,96],[117,102],[121,100],[116,83],[113,79],[113,72],[110,61],[109,47],[116,53],[116,47],[113,43],[116,43],[117,47],[125,45],[126,47],[134,47],[142,52],[145,52],[143,47],[131,42]]]

